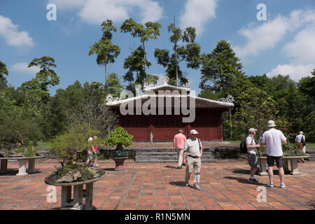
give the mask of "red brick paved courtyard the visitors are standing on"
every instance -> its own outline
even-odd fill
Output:
[[[267,188],[267,202],[257,202],[257,185],[248,183],[248,164],[244,160],[203,163],[201,190],[184,186],[185,169],[175,164],[125,162],[125,171],[114,172],[112,160],[99,161],[107,175],[94,183],[95,209],[314,209],[315,162],[299,163],[299,176],[286,175],[286,188]],[[18,162],[8,162],[8,173],[0,175],[0,209],[60,209],[61,187],[57,202],[46,202],[45,176],[59,166],[57,160],[36,162],[38,173],[15,176]],[[276,169],[275,169],[276,170]],[[276,173],[276,172],[275,172]],[[257,176],[260,186],[267,176]],[[193,185],[193,179],[190,180]]]

